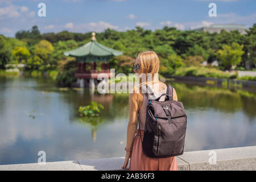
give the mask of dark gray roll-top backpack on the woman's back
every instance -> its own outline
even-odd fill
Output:
[[[147,97],[154,95],[149,86],[145,87],[142,90]],[[165,100],[159,101],[162,96],[166,96]],[[149,100],[147,104],[142,150],[150,158],[182,155],[184,150],[187,128],[184,106],[182,102],[173,100],[173,88],[170,85],[167,85],[167,93],[162,96]]]

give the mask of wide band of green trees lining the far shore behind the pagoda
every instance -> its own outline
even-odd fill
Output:
[[[55,70],[57,65],[61,64],[61,60],[68,59],[63,55],[64,51],[88,43],[91,32],[81,34],[62,31],[40,34],[38,27],[34,26],[31,30],[17,32],[16,39],[1,37],[0,67],[4,68],[7,63],[16,63],[18,59],[24,60],[28,70],[46,71]],[[230,69],[232,65],[237,65],[237,69],[240,70],[247,67],[255,69],[255,25],[246,35],[238,31],[221,31],[220,34],[212,34],[204,31],[180,31],[174,27],[163,27],[162,30],[155,31],[136,27],[135,30],[123,32],[107,29],[97,33],[96,39],[105,46],[123,51],[123,57],[113,57],[110,60],[110,68],[126,74],[133,73],[132,65],[138,52],[148,50],[158,54],[159,73],[163,75],[170,75],[180,67],[199,67],[204,60],[210,63],[216,60],[216,57],[222,62],[219,68]],[[11,52],[18,51],[15,50],[16,47],[26,48],[30,55],[22,53],[23,51],[12,54]],[[76,67],[77,65],[58,73],[59,81],[69,85],[71,81],[76,80],[72,75]]]

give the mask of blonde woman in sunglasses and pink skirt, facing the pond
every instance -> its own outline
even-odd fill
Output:
[[[148,80],[146,84],[150,86],[152,91],[154,92],[154,97],[158,98],[161,94],[166,93],[167,86],[163,82],[158,80],[158,71],[159,71],[159,59],[155,52],[146,51],[139,54],[135,61],[134,72],[141,74],[144,73],[148,76]],[[148,74],[151,73],[151,74]],[[149,79],[151,78],[151,79]],[[142,83],[143,84],[143,83]],[[158,92],[158,90],[160,92]],[[161,97],[160,101],[164,100]],[[150,98],[152,99],[152,98]],[[174,100],[177,101],[177,95],[174,89]],[[127,141],[126,141],[126,156],[125,163],[122,168],[126,168],[130,159],[130,167],[129,170],[164,170],[164,171],[175,171],[177,170],[177,162],[175,157],[170,158],[149,158],[142,152],[142,141],[143,133],[144,133],[144,125],[146,122],[146,105],[148,103],[148,98],[146,94],[143,94],[141,89],[134,88],[133,93],[129,95],[129,123],[127,126]],[[141,126],[141,133],[139,132],[138,127],[138,117],[139,124]],[[136,135],[135,135],[136,133]],[[135,135],[135,137],[134,137]],[[141,136],[142,135],[142,136]]]

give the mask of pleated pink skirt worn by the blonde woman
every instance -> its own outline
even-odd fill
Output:
[[[142,136],[141,136],[142,135]],[[133,140],[133,150],[130,158],[130,171],[177,171],[175,156],[170,158],[149,158],[142,152],[144,130],[139,130]]]

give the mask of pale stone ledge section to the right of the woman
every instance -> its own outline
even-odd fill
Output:
[[[209,164],[209,152],[216,152],[216,164]],[[190,170],[256,170],[256,146],[184,152],[178,156]]]

